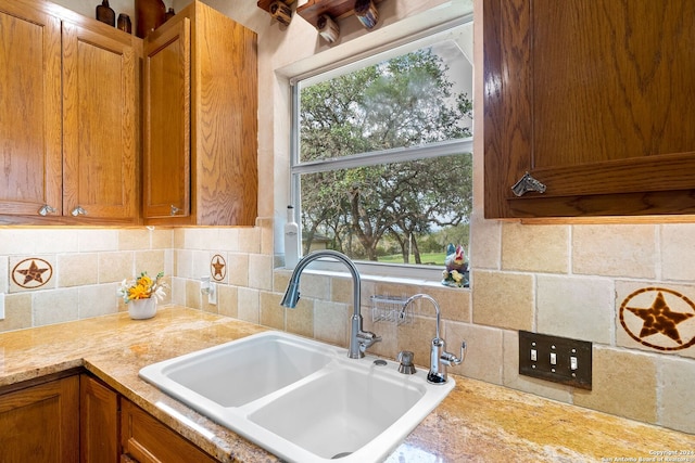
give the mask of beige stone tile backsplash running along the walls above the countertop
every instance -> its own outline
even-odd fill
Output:
[[[413,323],[400,326],[372,323],[369,304],[374,294],[428,293],[441,306],[447,349],[456,351],[463,339],[469,347],[453,373],[695,433],[692,236],[695,224],[476,219],[471,290],[363,276],[365,327],[383,337],[370,351],[393,358],[408,349],[428,365],[434,335],[428,303],[417,301]],[[352,281],[307,273],[296,309],[280,307],[290,272],[273,240],[271,219],[254,228],[0,229],[0,331],[125,310],[115,294],[121,280],[164,269],[172,284],[165,304],[346,346]],[[47,280],[35,287],[36,281],[24,283],[31,262],[34,275]],[[203,275],[218,283],[216,305],[200,292]],[[518,330],[591,340],[593,390],[520,376]]]

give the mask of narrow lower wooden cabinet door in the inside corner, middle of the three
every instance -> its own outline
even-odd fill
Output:
[[[79,376],[79,461],[118,463],[118,395],[98,380]]]

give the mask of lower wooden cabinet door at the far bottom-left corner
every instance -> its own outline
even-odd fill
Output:
[[[0,461],[78,461],[78,376],[0,395]]]

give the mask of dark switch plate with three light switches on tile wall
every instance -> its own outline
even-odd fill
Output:
[[[519,331],[519,374],[591,390],[591,362],[590,342]]]

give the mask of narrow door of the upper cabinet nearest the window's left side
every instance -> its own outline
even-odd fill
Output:
[[[191,26],[184,18],[144,42],[142,214],[191,213]]]

